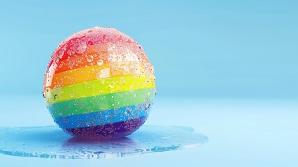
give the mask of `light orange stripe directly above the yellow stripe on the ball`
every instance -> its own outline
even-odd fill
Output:
[[[60,88],[83,81],[93,81],[110,77],[130,74],[142,74],[144,66],[140,61],[104,63],[104,65],[90,65],[53,74],[51,84],[47,88]]]

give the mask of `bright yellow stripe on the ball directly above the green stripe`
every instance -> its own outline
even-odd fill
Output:
[[[139,74],[99,79],[61,88],[46,88],[47,105],[83,97],[105,95],[128,90],[154,88],[154,75]]]

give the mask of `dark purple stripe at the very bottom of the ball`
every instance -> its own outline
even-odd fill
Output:
[[[144,124],[148,116],[116,122],[113,124],[98,125],[93,127],[80,127],[65,129],[65,132],[78,138],[113,139],[121,138],[132,134]]]

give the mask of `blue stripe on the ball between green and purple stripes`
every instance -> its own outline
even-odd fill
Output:
[[[146,104],[138,104],[136,106],[126,106],[107,111],[63,116],[54,118],[54,120],[62,129],[113,124],[115,122],[123,122],[142,116],[148,116],[151,111],[151,106],[150,104],[149,109],[146,109]]]

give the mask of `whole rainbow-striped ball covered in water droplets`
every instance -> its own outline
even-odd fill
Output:
[[[116,29],[71,35],[53,51],[43,95],[53,120],[81,138],[119,138],[147,120],[156,93],[142,47]]]

